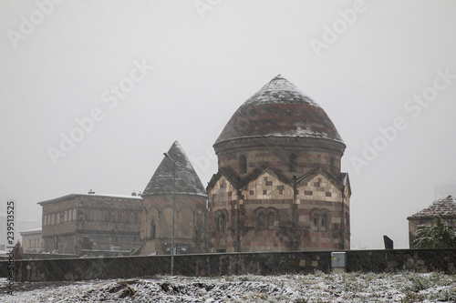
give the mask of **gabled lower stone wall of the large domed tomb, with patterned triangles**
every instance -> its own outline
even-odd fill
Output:
[[[239,190],[229,177],[212,179],[208,252],[349,247],[348,187],[324,170],[314,171],[296,185],[288,181],[272,169],[259,171]]]

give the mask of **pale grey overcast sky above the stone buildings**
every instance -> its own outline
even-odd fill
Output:
[[[281,74],[347,145],[352,247],[409,247],[456,181],[455,29],[451,0],[0,0],[0,199],[39,227],[39,201],[142,191],[175,140],[206,186],[223,126]]]

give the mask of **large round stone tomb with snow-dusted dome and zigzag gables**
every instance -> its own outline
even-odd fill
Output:
[[[346,145],[323,108],[284,77],[245,101],[213,147],[209,252],[349,249]]]

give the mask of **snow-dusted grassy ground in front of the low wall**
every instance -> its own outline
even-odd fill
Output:
[[[5,289],[6,279],[0,279]],[[341,273],[17,283],[2,302],[456,302],[456,275]]]

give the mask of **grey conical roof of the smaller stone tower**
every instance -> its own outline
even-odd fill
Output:
[[[206,197],[206,191],[192,163],[185,155],[179,142],[175,141],[168,156],[176,162],[176,195],[196,195]],[[157,168],[149,181],[142,196],[148,195],[172,195],[173,193],[173,166],[170,158],[163,157],[160,166]]]

